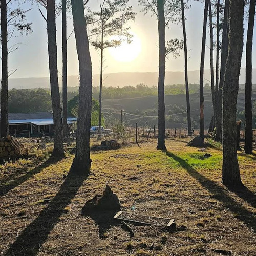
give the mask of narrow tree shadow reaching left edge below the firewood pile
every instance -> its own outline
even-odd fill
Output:
[[[0,197],[6,195],[13,188],[15,188],[18,185],[24,183],[25,181],[27,181],[28,179],[30,179],[34,175],[40,173],[42,170],[49,167],[50,165],[57,163],[61,159],[62,158],[50,157],[50,158],[47,159],[46,162],[42,163],[41,165],[37,166],[36,168],[34,168],[32,170],[29,170],[26,174],[24,174],[23,176],[18,177],[17,179],[14,178],[14,176],[15,176],[15,174],[14,174],[14,175],[11,175],[11,176],[7,177],[4,180],[1,180],[2,184],[3,183],[8,183],[8,184],[0,187]],[[13,178],[14,178],[14,180],[13,180]]]

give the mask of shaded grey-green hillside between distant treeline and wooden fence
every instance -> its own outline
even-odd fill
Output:
[[[256,89],[253,89],[253,100],[256,100]],[[107,99],[103,100],[103,112],[113,113],[116,118],[120,118],[120,111],[123,109],[126,113],[124,121],[131,126],[135,126],[138,123],[139,126],[157,126],[157,96],[147,96],[133,99]],[[174,105],[178,106],[181,110],[174,112]],[[166,116],[166,128],[179,128],[186,127],[186,95],[165,95],[165,115]],[[199,93],[190,95],[190,108],[193,127],[198,127],[199,122]],[[244,90],[241,89],[238,94],[238,111],[244,110]],[[172,111],[171,113],[169,112]],[[184,113],[185,112],[185,113]],[[182,113],[182,114],[178,114]],[[142,117],[143,116],[143,117]],[[209,126],[212,116],[212,99],[211,93],[204,94],[204,124],[205,128]]]

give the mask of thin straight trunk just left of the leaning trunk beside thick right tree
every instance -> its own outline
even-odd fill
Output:
[[[215,116],[214,127],[216,127],[216,111],[219,88],[219,56],[220,56],[220,0],[217,1],[217,39],[216,39],[216,78],[215,78]]]

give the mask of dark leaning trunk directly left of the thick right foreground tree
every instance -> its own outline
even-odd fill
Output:
[[[222,49],[221,49],[221,70],[220,70],[220,84],[218,89],[218,97],[216,99],[216,137],[215,140],[222,141],[222,88],[224,82],[224,74],[226,68],[227,54],[228,54],[228,10],[229,0],[225,0],[224,20],[222,31]]]

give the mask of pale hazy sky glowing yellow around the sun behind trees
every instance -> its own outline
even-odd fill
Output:
[[[99,0],[90,0],[90,6],[97,9]],[[156,72],[158,71],[158,31],[157,20],[150,14],[144,15],[140,12],[137,0],[130,0],[130,4],[137,12],[135,22],[130,24],[131,32],[134,34],[134,43],[129,47],[117,50],[105,51],[105,73],[114,72]],[[202,21],[203,21],[203,5],[196,1],[191,2],[192,7],[186,11],[186,27],[187,27],[187,44],[188,44],[188,69],[199,70],[201,57],[201,41],[202,41]],[[30,8],[29,4],[25,7]],[[24,7],[24,8],[25,8]],[[38,6],[33,5],[32,10],[27,14],[28,22],[33,22],[33,33],[25,36],[18,36],[12,40],[12,44],[21,42],[19,49],[9,55],[9,70],[17,71],[11,78],[20,77],[48,77],[48,51],[47,51],[47,30],[46,22],[39,13]],[[41,10],[46,13],[44,8]],[[71,13],[68,14],[68,34],[73,30],[73,21]],[[247,24],[245,24],[246,36]],[[180,26],[170,26],[166,29],[166,40],[178,37],[182,39],[182,28]],[[209,33],[207,33],[209,38]],[[256,38],[255,38],[256,39]],[[11,44],[10,43],[10,44]],[[209,40],[207,40],[209,46]],[[57,46],[58,46],[58,70],[61,74],[62,55],[61,55],[61,17],[57,17]],[[129,53],[131,52],[131,54]],[[90,49],[93,74],[99,73],[99,54],[93,47]],[[137,52],[137,53],[136,53]],[[127,54],[129,53],[129,54]],[[135,57],[133,61],[121,62],[120,57],[131,60],[129,57]],[[256,58],[256,49],[253,49],[253,59]],[[243,56],[242,67],[245,66],[245,56]],[[205,69],[209,69],[209,49],[206,48]],[[184,55],[174,59],[170,56],[166,60],[166,71],[183,71]],[[68,40],[68,75],[78,75],[78,61],[75,46],[74,34]]]

